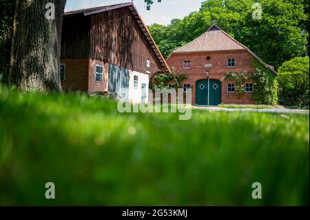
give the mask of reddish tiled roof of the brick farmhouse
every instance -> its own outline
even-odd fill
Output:
[[[268,65],[260,59],[254,52],[246,46],[239,43],[234,38],[230,37],[225,31],[221,30],[215,23],[205,32],[193,41],[185,44],[172,52],[172,54],[193,53],[193,52],[214,52],[225,50],[247,50],[251,53],[262,65],[269,68],[273,73],[277,74],[273,66]],[[168,58],[169,59],[169,58]]]

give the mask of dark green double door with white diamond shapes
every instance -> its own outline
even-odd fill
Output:
[[[222,83],[218,79],[196,81],[196,104],[198,106],[218,106],[222,97]]]

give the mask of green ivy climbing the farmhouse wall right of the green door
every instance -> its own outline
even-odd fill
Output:
[[[271,72],[260,63],[254,63],[253,74],[242,72],[227,72],[225,79],[230,79],[235,83],[235,93],[245,93],[245,82],[252,80],[254,83],[253,98],[260,105],[276,105],[278,104],[278,82],[276,74]]]

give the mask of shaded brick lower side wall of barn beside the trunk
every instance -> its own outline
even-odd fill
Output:
[[[65,92],[88,90],[88,58],[86,59],[61,59],[65,64],[65,80],[61,87]]]

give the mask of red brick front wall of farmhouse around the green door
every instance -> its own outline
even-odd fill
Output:
[[[207,57],[210,57],[207,60]],[[235,68],[227,68],[227,59],[235,59]],[[190,60],[190,69],[183,69],[183,61]],[[172,54],[167,59],[170,68],[174,67],[176,73],[187,74],[188,79],[183,83],[189,83],[192,88],[192,103],[196,103],[196,81],[200,79],[207,79],[206,72],[209,71],[209,79],[222,80],[226,77],[227,72],[241,72],[247,70],[249,74],[254,72],[252,61],[253,55],[247,50],[229,51],[229,52],[202,52],[192,54]],[[211,64],[211,67],[205,67],[205,64]],[[249,81],[250,82],[250,81]],[[238,103],[238,104],[253,104],[255,101],[251,97],[251,93],[237,95],[234,92],[227,92],[227,83],[229,81],[222,81],[222,103]],[[255,90],[255,88],[254,88]]]

